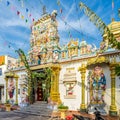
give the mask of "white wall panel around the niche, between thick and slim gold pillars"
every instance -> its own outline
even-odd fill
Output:
[[[69,106],[70,110],[80,109],[80,104],[81,104],[81,74],[78,71],[78,68],[81,66],[81,63],[83,63],[83,62],[75,61],[75,62],[61,64],[61,71],[60,71],[60,78],[59,78],[60,98],[61,98],[61,101],[65,105]],[[64,74],[66,72],[66,68],[74,68],[75,72],[76,72],[76,84],[73,88],[75,98],[65,98],[66,87],[65,87],[63,81],[64,81]],[[87,96],[87,90],[85,90],[85,96]],[[87,98],[85,99],[85,103],[87,103]]]

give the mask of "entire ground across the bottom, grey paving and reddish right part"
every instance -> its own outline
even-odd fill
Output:
[[[59,110],[51,109],[51,105],[46,102],[37,102],[33,105],[24,106],[14,111],[0,110],[0,120],[76,120],[73,115],[80,115],[85,120],[94,120],[93,114],[78,111],[66,111],[66,119],[61,118]],[[119,117],[111,117],[109,115],[102,116],[104,120],[120,120]],[[82,119],[81,119],[82,120]]]

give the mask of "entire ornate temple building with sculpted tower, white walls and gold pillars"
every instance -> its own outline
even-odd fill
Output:
[[[46,78],[36,77],[36,88],[32,90],[34,102],[42,101],[47,89],[47,97],[53,102],[63,102],[70,110],[92,112],[92,107],[100,106],[104,113],[117,115],[120,108],[120,79],[115,75],[115,67],[120,64],[120,51],[108,46],[106,35],[103,38],[107,49],[101,53],[100,49],[82,38],[81,42],[71,39],[68,44],[60,46],[56,16],[56,11],[44,13],[32,26],[31,48],[27,55],[30,73],[40,75],[45,74],[46,68],[51,70],[48,89]],[[119,39],[120,22],[112,21],[108,27]],[[23,61],[18,59],[6,72],[6,88],[9,88],[6,89],[6,101],[16,104],[27,101],[31,88],[26,69]]]

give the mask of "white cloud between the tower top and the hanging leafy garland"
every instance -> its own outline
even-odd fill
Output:
[[[58,20],[58,30],[59,31],[63,31],[65,32],[66,31],[66,27],[67,29],[73,29],[75,28],[77,31],[80,31],[85,33],[85,34],[89,34],[89,36],[93,36],[93,37],[97,37],[99,31],[97,30],[96,26],[91,23],[89,21],[89,19],[85,16],[82,16],[80,18],[80,20],[75,20],[75,19],[72,19],[72,20],[68,20],[69,22],[67,22],[67,24],[65,24],[65,22],[63,20]],[[72,26],[72,27],[69,27]],[[74,30],[74,29],[73,29]]]

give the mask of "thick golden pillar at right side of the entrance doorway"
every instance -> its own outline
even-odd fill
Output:
[[[52,67],[52,85],[51,85],[51,99],[54,102],[61,103],[59,93],[59,73],[60,67]]]

